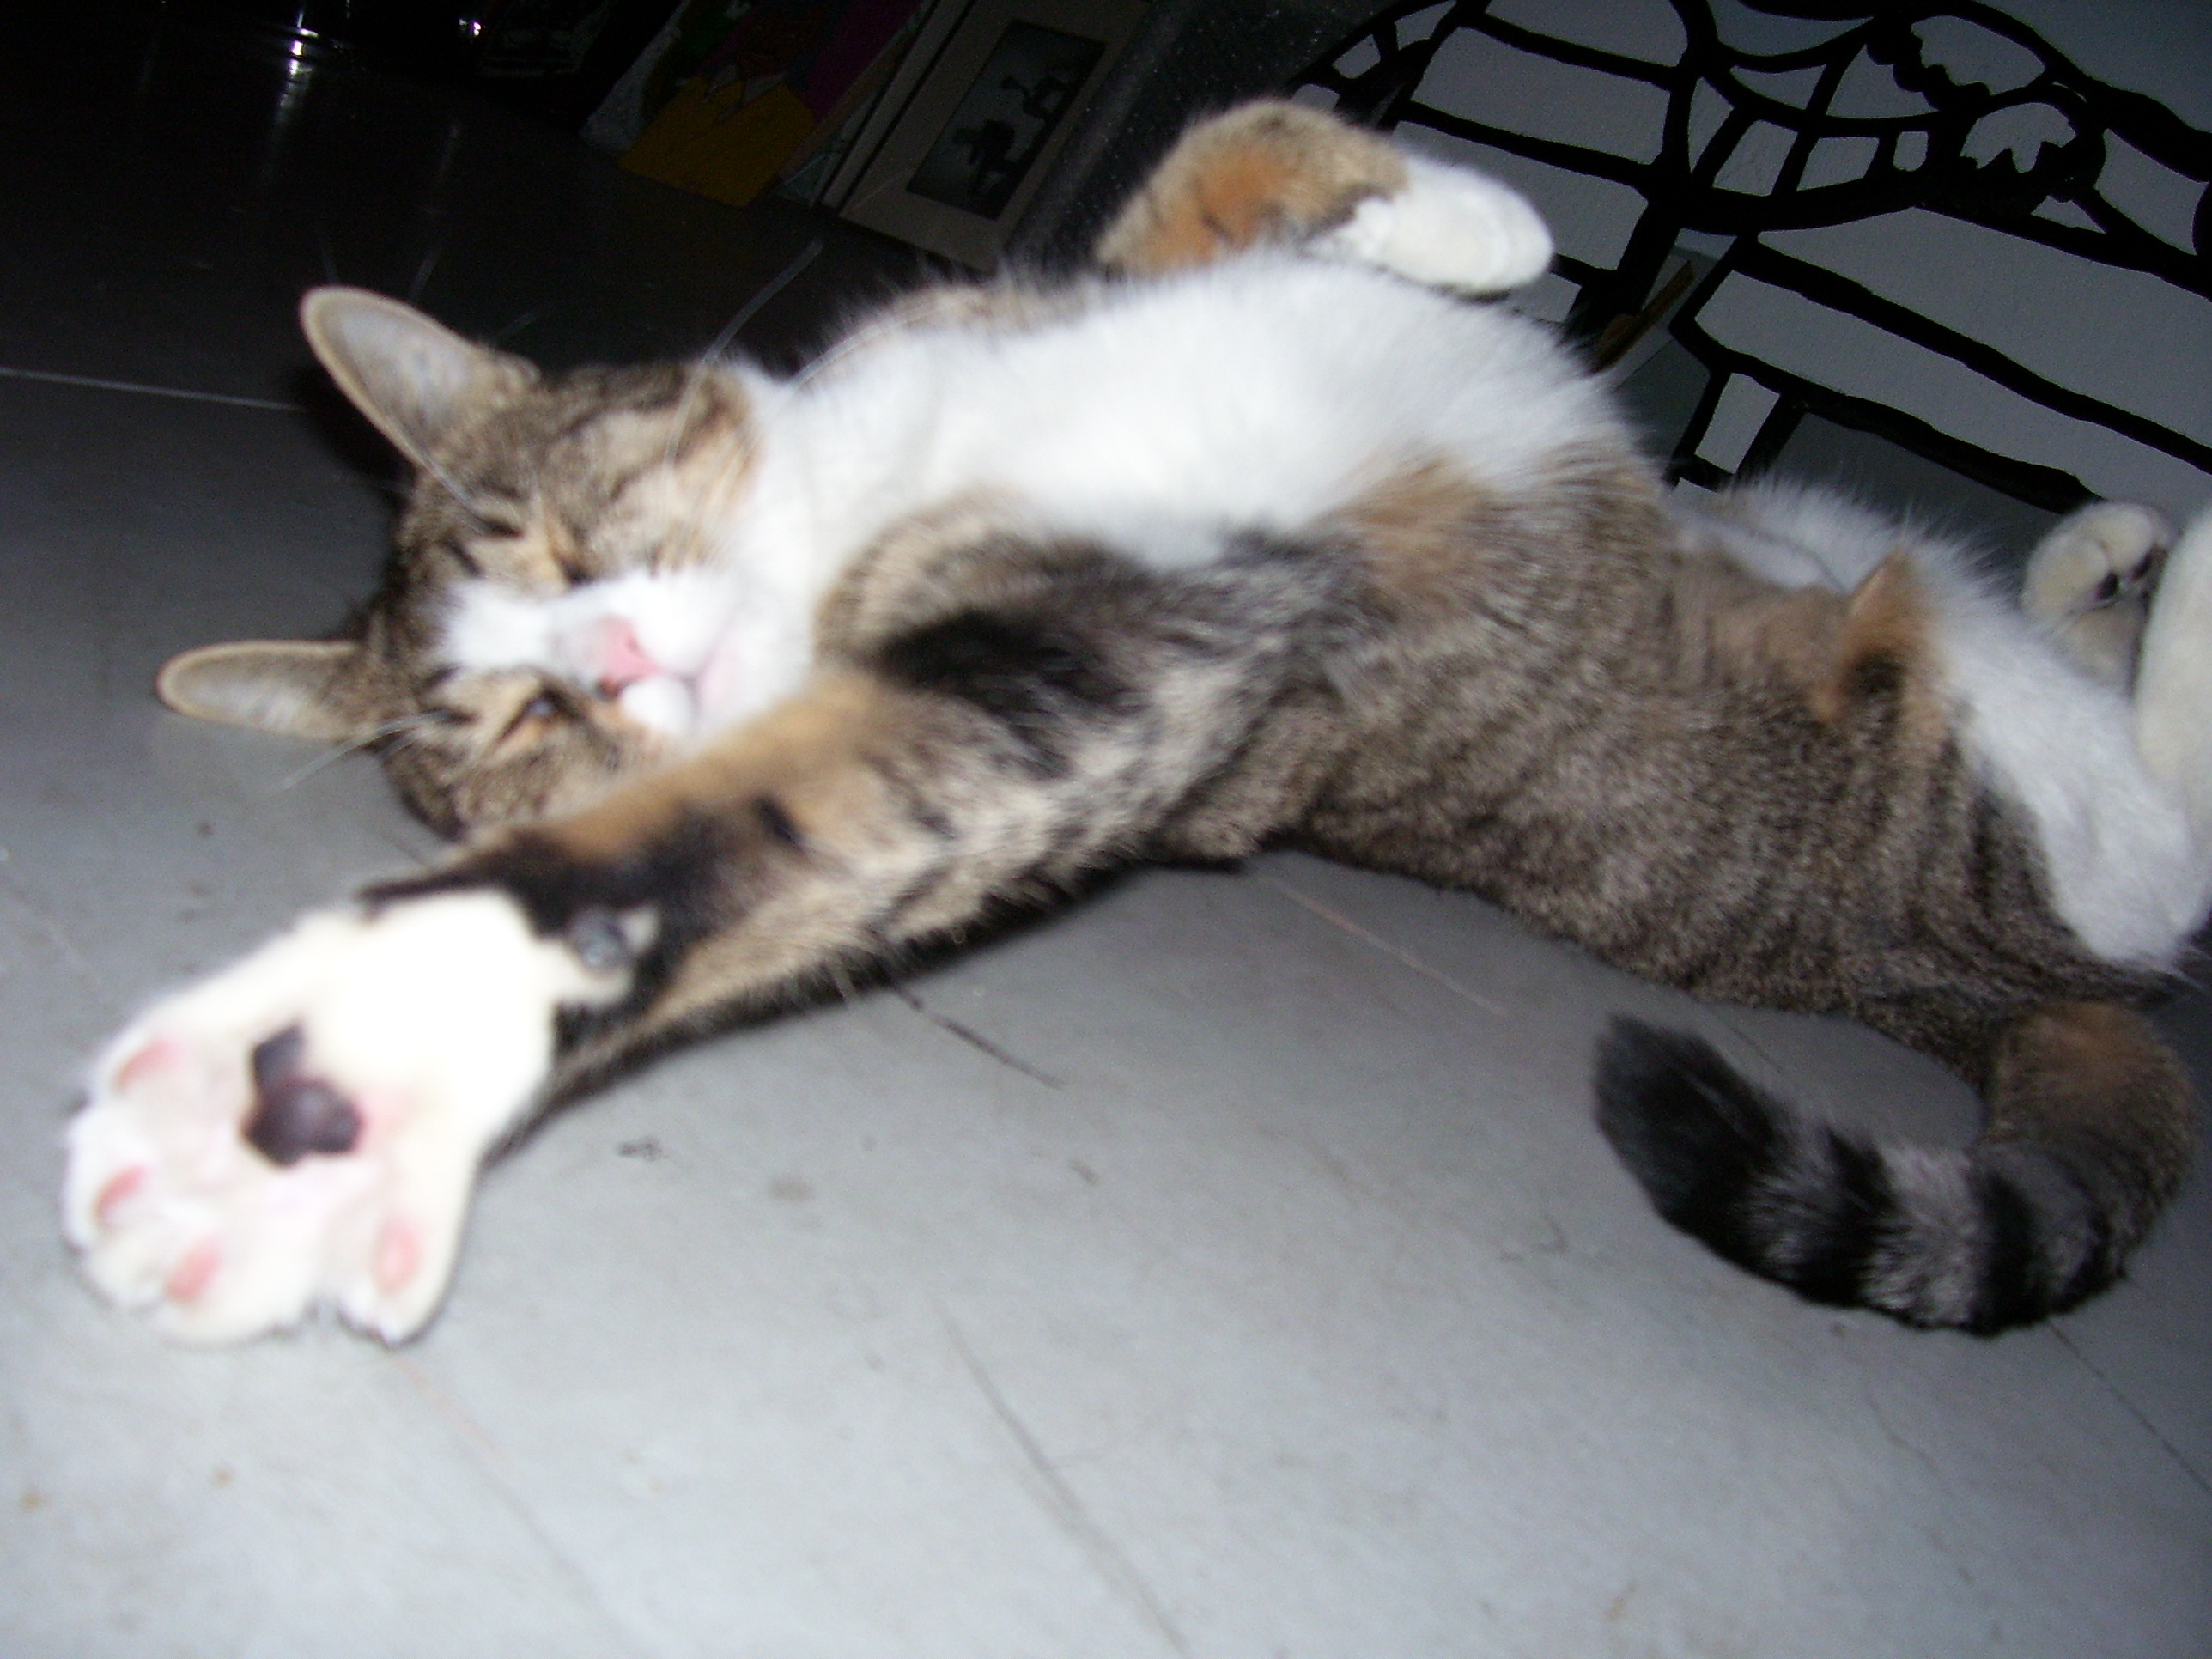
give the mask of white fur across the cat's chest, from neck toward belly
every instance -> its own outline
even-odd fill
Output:
[[[1411,462],[1513,489],[1619,434],[1540,325],[1292,254],[1108,288],[1042,327],[914,330],[754,396],[741,557],[803,546],[825,573],[969,500],[1179,568],[1228,533],[1294,533]]]

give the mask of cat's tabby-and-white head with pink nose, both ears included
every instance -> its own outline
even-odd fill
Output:
[[[750,595],[714,544],[752,469],[741,383],[544,374],[347,288],[307,294],[301,321],[416,471],[385,584],[345,639],[170,659],[161,701],[374,743],[447,834],[582,805],[697,737],[701,701],[730,701],[717,675],[743,668]]]

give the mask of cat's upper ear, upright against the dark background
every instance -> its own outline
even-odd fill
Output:
[[[538,378],[522,358],[471,345],[365,288],[310,290],[299,325],[338,389],[422,469],[462,416]]]

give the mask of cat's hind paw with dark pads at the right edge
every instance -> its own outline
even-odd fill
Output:
[[[2174,544],[2163,513],[2132,502],[2090,502],[2059,520],[2020,584],[2020,608],[2097,679],[2135,679],[2150,593]]]

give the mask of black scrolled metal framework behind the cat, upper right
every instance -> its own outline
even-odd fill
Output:
[[[1604,29],[1566,38],[1573,29],[1557,20],[1575,11],[1405,0],[1338,42],[1294,86],[1298,97],[1334,100],[1354,119],[1402,128],[1411,142],[1484,146],[1635,192],[1641,206],[1613,259],[1564,254],[1555,263],[1579,290],[1564,327],[1586,345],[1650,305],[1686,237],[1721,246],[1672,321],[1674,338],[1710,369],[1705,398],[1674,451],[1674,476],[1710,487],[1732,471],[1756,471],[1807,414],[1818,414],[2037,507],[2064,511],[2095,493],[2070,465],[2004,453],[1982,434],[1966,436],[1933,392],[1924,398],[1929,407],[1911,409],[1747,349],[1717,325],[1754,292],[1747,283],[1770,296],[1796,296],[1778,301],[1785,305],[1805,301],[1856,319],[2044,411],[2212,476],[2212,422],[2174,416],[2174,398],[2146,409],[2132,387],[2112,385],[2117,376],[2086,383],[2099,376],[2033,361],[2033,341],[2022,349],[2017,341],[1984,338],[1978,319],[1936,316],[1885,294],[1836,261],[1809,257],[1803,243],[1816,237],[1792,234],[1865,226],[1885,215],[1940,215],[2106,270],[2141,272],[2159,285],[2141,292],[2161,305],[2205,305],[2203,319],[2190,310],[2183,316],[2201,330],[2199,338],[2212,341],[2212,190],[2205,188],[2212,135],[2152,97],[2095,80],[2020,20],[1973,0],[1882,7],[1648,0],[1646,22],[1670,35],[1672,46],[1655,55],[1621,51],[1619,42],[1595,44],[1593,33]],[[1597,15],[1595,7],[1579,11]],[[1546,29],[1517,15],[1544,18]],[[1805,44],[1763,51],[1732,44],[1730,35],[1743,38],[1745,20],[1765,33],[1796,29]],[[1473,62],[1471,46],[1524,71],[1582,71],[1577,86],[1595,88],[1582,93],[1588,108],[1610,100],[1632,128],[1641,122],[1652,131],[1630,144],[1615,137],[1608,148],[1562,135],[1559,122],[1515,128],[1486,119],[1467,97],[1440,93],[1453,64]],[[1980,73],[1960,73],[1962,53],[1982,64]],[[1989,69],[1993,60],[2002,64]],[[1551,131],[1526,131],[1542,126]],[[2141,188],[2121,201],[2115,181]],[[2152,221],[2146,204],[2154,208]],[[1973,243],[1958,257],[1973,259],[1980,248]],[[2146,325],[2141,316],[2112,323]],[[2212,378],[2205,365],[2194,374],[2199,385]],[[1723,467],[1701,445],[1723,394],[1743,380],[1761,389],[1763,418],[1741,456]],[[2168,469],[2166,478],[2170,493],[2190,491],[2185,473]]]

